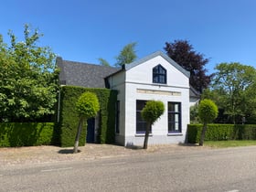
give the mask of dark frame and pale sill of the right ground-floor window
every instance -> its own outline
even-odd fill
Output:
[[[177,104],[178,110],[171,111],[169,104]],[[181,102],[177,101],[168,101],[168,133],[182,133],[181,129],[181,123],[182,123],[182,111],[181,111]],[[170,116],[172,115],[172,116]],[[177,119],[176,119],[176,115]],[[178,125],[178,128],[176,129],[176,124]]]

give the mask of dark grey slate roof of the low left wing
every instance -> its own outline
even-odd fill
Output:
[[[104,78],[119,70],[119,68],[63,60],[60,57],[56,59],[56,63],[60,69],[60,84],[87,88],[105,88]]]

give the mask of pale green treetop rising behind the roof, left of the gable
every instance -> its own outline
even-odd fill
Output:
[[[116,57],[116,67],[123,66],[125,64],[132,63],[136,58],[135,48],[136,43],[129,43],[120,51],[120,54]]]

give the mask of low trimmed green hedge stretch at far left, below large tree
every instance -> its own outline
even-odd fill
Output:
[[[54,123],[0,123],[0,146],[54,144]]]

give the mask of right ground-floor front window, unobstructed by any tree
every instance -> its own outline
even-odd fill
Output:
[[[168,102],[168,132],[181,133],[180,102]]]

